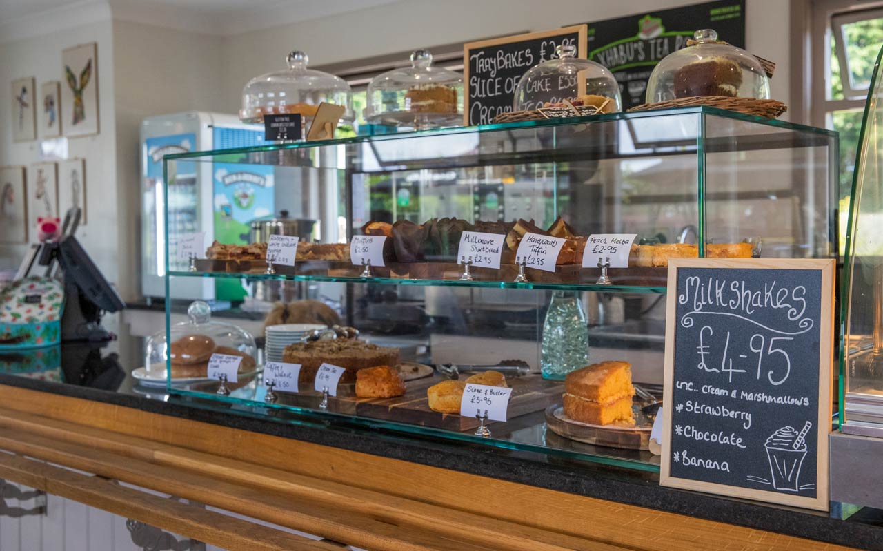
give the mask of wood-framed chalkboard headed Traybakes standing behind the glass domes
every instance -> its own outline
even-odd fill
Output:
[[[511,111],[521,76],[531,67],[557,57],[555,47],[561,45],[576,46],[577,57],[585,58],[585,25],[464,44],[464,125],[489,124],[494,116]],[[538,97],[545,93],[545,101],[560,101],[558,83],[548,85],[548,90],[538,91]],[[563,85],[570,90],[573,83]]]

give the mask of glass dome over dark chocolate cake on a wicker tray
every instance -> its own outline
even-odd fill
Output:
[[[662,58],[647,82],[647,103],[696,96],[770,99],[770,80],[758,58],[717,41],[712,29],[696,31],[695,46]]]

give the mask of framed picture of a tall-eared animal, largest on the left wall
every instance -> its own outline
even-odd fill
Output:
[[[97,54],[95,42],[62,50],[62,127],[68,138],[98,133]]]

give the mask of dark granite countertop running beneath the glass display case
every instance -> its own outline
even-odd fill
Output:
[[[433,436],[406,434],[377,424],[348,420],[334,413],[311,413],[306,416],[275,408],[168,395],[162,388],[140,388],[128,370],[119,365],[116,354],[109,354],[101,348],[65,345],[59,355],[60,369],[50,366],[40,371],[39,366],[26,369],[23,363],[15,361],[13,355],[0,354],[0,384],[96,400],[149,413],[293,438],[758,530],[849,547],[883,549],[883,511],[880,510],[859,510],[848,519],[841,520],[810,510],[661,487],[656,473],[553,454],[503,450]],[[43,380],[34,375],[42,376]],[[64,382],[45,380],[53,378],[61,378]],[[842,514],[839,508],[835,512]]]

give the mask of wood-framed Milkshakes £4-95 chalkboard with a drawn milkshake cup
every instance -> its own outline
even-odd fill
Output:
[[[828,510],[834,260],[668,264],[660,483]]]

